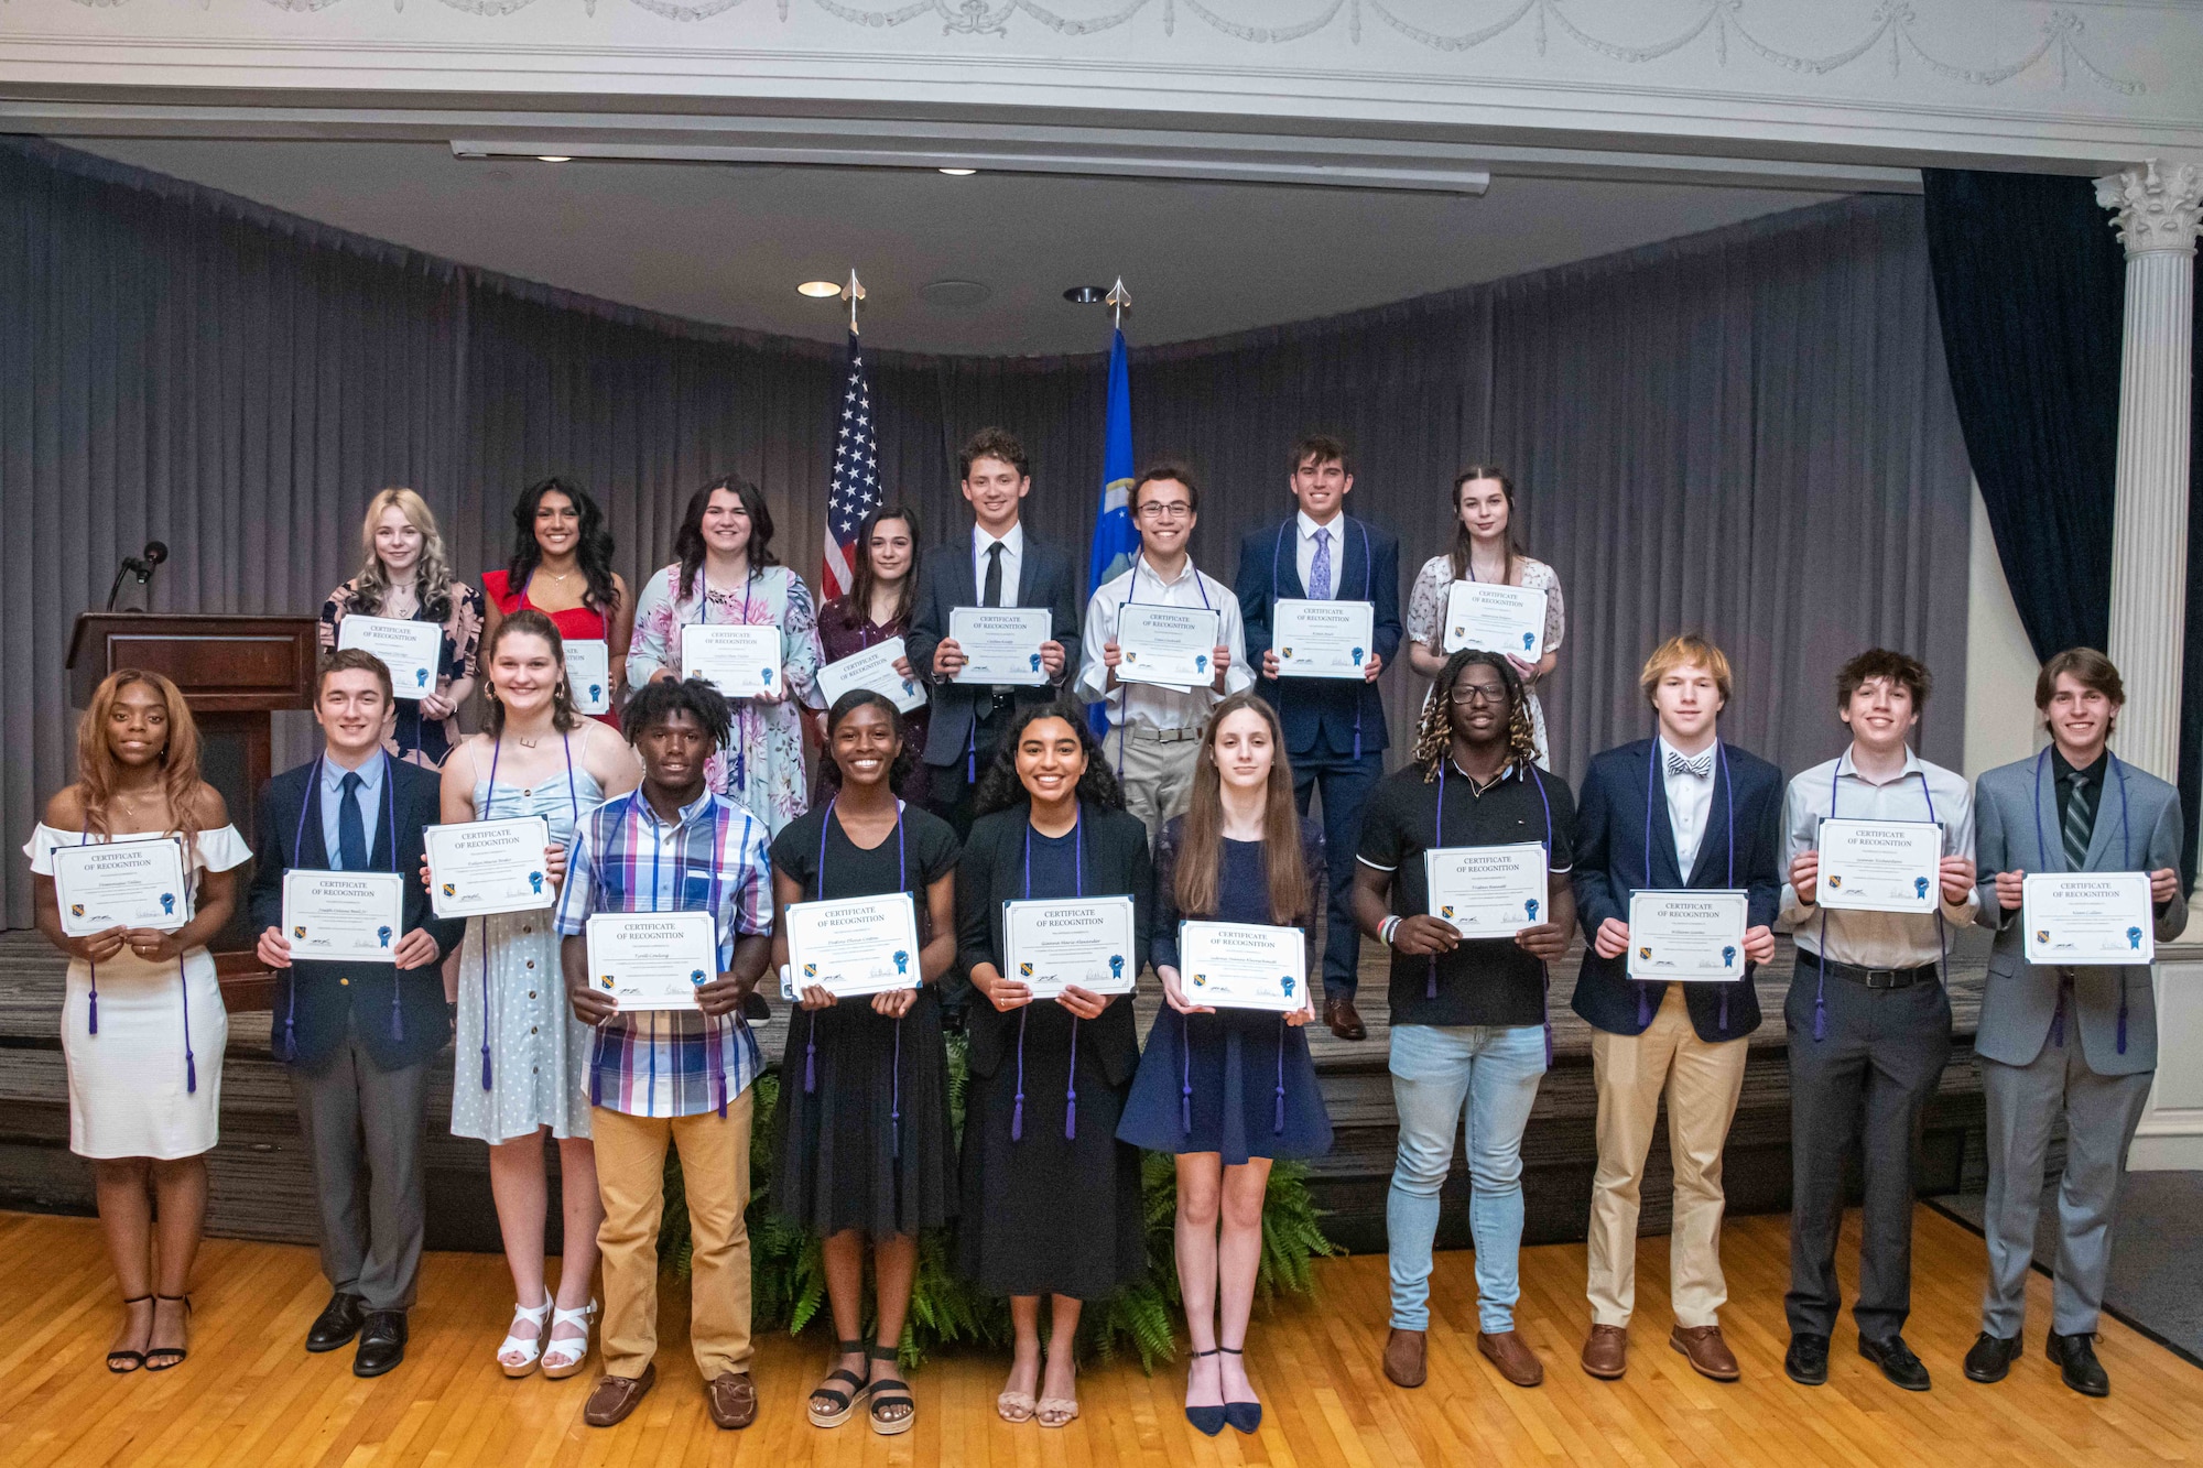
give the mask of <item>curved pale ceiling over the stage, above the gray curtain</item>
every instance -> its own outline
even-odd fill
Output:
[[[668,315],[934,353],[1084,353],[1124,276],[1126,337],[1183,342],[1696,234],[1824,192],[1496,176],[1489,194],[718,163],[456,159],[443,143],[59,139],[357,234]],[[976,282],[985,291],[934,282]],[[972,295],[983,295],[976,304]]]

